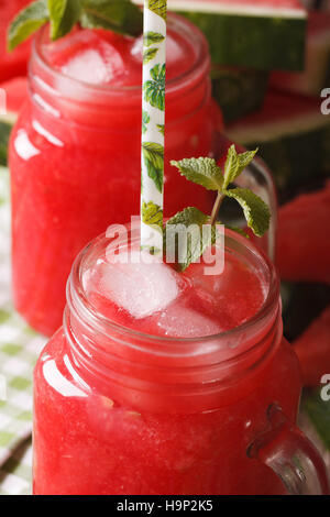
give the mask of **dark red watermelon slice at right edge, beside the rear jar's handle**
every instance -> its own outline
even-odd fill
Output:
[[[279,209],[276,263],[282,279],[330,284],[329,235],[330,180]]]

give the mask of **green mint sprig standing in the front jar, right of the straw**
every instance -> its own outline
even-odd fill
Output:
[[[244,168],[253,161],[256,152],[257,150],[239,154],[237,153],[235,146],[231,145],[228,151],[223,173],[216,161],[209,157],[185,158],[179,162],[170,162],[189,182],[194,182],[208,190],[218,191],[218,197],[210,217],[206,216],[197,208],[190,207],[178,212],[167,221],[165,234],[167,234],[168,231],[170,232],[169,227],[175,224],[183,224],[186,228],[194,224],[200,228],[204,224],[211,227],[211,232],[205,240],[200,238],[199,240],[197,240],[197,238],[194,240],[194,238],[188,237],[185,260],[178,261],[182,271],[187,268],[193,262],[196,262],[204,254],[205,250],[216,242],[218,215],[226,197],[239,202],[243,209],[248,227],[251,228],[255,235],[262,237],[268,230],[271,211],[267,205],[252,190],[239,187],[229,188],[240,174],[242,174]],[[232,230],[243,233],[241,229],[232,228]]]

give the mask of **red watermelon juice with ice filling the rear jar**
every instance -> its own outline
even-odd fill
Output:
[[[212,154],[221,129],[206,41],[179,16],[169,16],[167,61],[166,210],[207,211],[212,197],[169,166]],[[141,82],[142,36],[77,30],[50,42],[43,30],[34,42],[30,98],[10,146],[13,294],[46,334],[61,326],[79,250],[140,212]]]

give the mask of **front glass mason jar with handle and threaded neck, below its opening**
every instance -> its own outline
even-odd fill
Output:
[[[64,326],[34,371],[34,493],[327,493],[322,460],[295,427],[300,372],[271,261],[227,231],[226,251],[261,272],[264,305],[218,336],[160,338],[91,305],[85,274],[109,242],[77,257]]]

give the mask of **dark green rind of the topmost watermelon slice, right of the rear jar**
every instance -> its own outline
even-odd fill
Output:
[[[212,63],[261,70],[305,66],[307,21],[179,11],[206,35]]]

